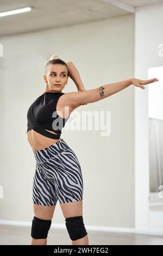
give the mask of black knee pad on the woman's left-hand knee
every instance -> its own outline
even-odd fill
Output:
[[[31,236],[34,239],[45,239],[47,238],[49,228],[51,227],[51,220],[41,220],[34,216],[32,221]]]

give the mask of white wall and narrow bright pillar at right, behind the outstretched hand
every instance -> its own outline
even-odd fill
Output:
[[[135,77],[148,79],[148,68],[161,66],[159,44],[163,43],[163,4],[136,9]],[[158,77],[159,78],[159,77]],[[151,84],[149,86],[154,86]],[[135,87],[135,228],[148,229],[149,155],[148,86]]]

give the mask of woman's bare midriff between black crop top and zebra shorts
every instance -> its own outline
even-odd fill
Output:
[[[46,130],[46,131],[49,131],[49,130]],[[53,131],[49,131],[49,132],[51,132],[53,134],[57,134]],[[32,147],[32,149],[34,151],[45,149],[61,140],[61,138],[59,138],[59,139],[48,138],[46,136],[41,135],[38,132],[35,132],[33,129],[31,129],[27,132],[27,138],[28,138],[28,142],[29,142],[30,146]]]

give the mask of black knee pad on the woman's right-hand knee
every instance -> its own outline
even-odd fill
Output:
[[[83,216],[66,218],[65,221],[66,228],[71,240],[77,240],[87,235],[83,223]]]

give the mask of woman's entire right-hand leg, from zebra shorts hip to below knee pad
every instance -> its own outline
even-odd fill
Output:
[[[65,145],[65,142],[62,142]],[[83,223],[83,176],[74,151],[67,147],[55,159],[55,191],[72,245],[88,245]]]

